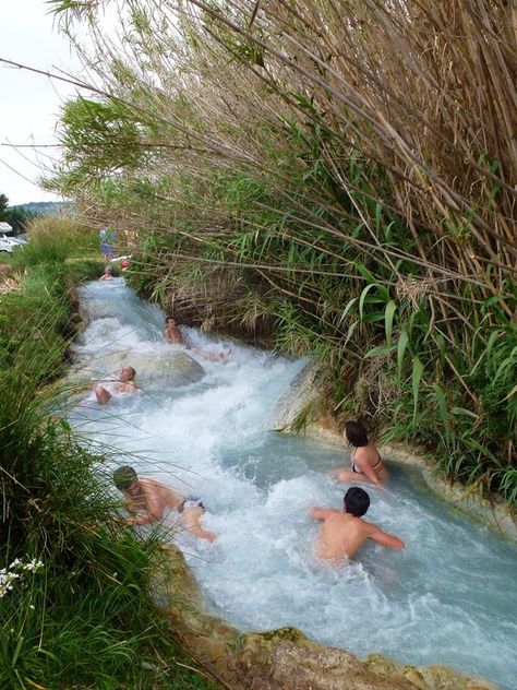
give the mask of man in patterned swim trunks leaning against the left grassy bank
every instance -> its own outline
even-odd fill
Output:
[[[167,509],[180,514],[185,530],[200,539],[214,542],[216,535],[201,526],[205,507],[197,496],[184,497],[165,484],[147,477],[139,478],[133,467],[125,465],[113,472],[113,484],[122,491],[124,505],[131,514],[130,525],[148,525],[159,522]]]

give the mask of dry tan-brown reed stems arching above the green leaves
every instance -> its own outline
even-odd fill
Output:
[[[129,5],[146,3],[133,0]],[[359,150],[365,158],[383,162],[393,176],[393,203],[409,219],[419,247],[420,260],[412,260],[429,279],[447,274],[477,285],[480,295],[500,294],[504,277],[515,271],[517,181],[516,109],[510,107],[516,102],[515,35],[502,3],[386,5],[368,0],[346,5],[301,1],[292,7],[279,0],[257,8],[244,0],[227,3],[226,13],[197,0],[148,7],[167,13],[170,37],[161,35],[160,45],[146,46],[147,73],[184,96],[193,116],[185,120],[184,106],[182,110],[170,98],[170,91],[156,87],[157,80],[146,76],[139,56],[124,51],[129,72],[140,76],[136,91],[131,84],[137,108],[163,123],[164,147],[167,131],[177,140],[167,160],[152,159],[149,170],[160,175],[169,164],[179,164],[200,178],[211,160],[227,169],[238,164],[262,170],[270,183],[275,171],[264,158],[256,122],[278,128],[285,118],[313,119],[333,134],[326,165],[349,198],[353,188],[342,170],[347,152]],[[179,36],[178,26],[195,45]],[[237,39],[255,45],[261,60],[239,56]],[[120,61],[101,36],[98,41],[109,59]],[[115,76],[104,78],[124,96],[125,87],[121,91]],[[300,108],[294,91],[312,98],[316,115]],[[183,146],[188,156],[181,156]],[[483,203],[495,185],[497,193]],[[324,203],[336,219],[342,217],[335,201]],[[305,214],[303,201],[297,204]],[[357,211],[371,228],[364,211]],[[428,228],[429,236],[417,233],[417,226]],[[325,230],[341,233],[332,224]],[[362,249],[381,264],[393,266],[393,259],[404,257],[380,247],[372,229],[370,236],[372,241],[363,241]],[[489,274],[488,263],[497,271]],[[503,306],[512,311],[504,299]]]

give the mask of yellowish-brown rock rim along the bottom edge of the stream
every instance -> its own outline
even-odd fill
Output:
[[[484,678],[442,665],[396,663],[381,654],[363,659],[308,639],[297,628],[240,632],[206,614],[183,555],[164,545],[155,597],[176,639],[227,687],[261,690],[497,690]]]

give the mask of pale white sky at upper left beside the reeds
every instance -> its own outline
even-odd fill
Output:
[[[52,72],[77,69],[46,0],[2,2],[1,17],[0,58]],[[48,160],[45,156],[59,156],[59,148],[40,148],[36,155],[32,148],[15,151],[4,144],[55,144],[61,104],[75,93],[71,84],[0,62],[0,193],[10,205],[58,199],[36,180],[41,175],[38,166]]]

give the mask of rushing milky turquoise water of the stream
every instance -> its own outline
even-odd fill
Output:
[[[122,279],[88,284],[81,297],[92,321],[77,356],[92,379],[113,373],[106,362],[116,352],[131,364],[170,349],[163,313]],[[211,352],[228,344],[184,334]],[[175,539],[213,610],[241,629],[297,626],[359,656],[449,664],[517,688],[517,550],[432,498],[418,473],[392,465],[388,490],[368,489],[368,518],[406,551],[371,544],[349,566],[322,566],[308,511],[341,505],[347,487],[326,471],[346,464],[348,451],[269,432],[275,402],[303,362],[232,347],[225,364],[199,359],[197,383],[142,386],[105,408],[89,395],[72,415],[91,440],[120,449],[121,463],[203,497],[217,542]]]

